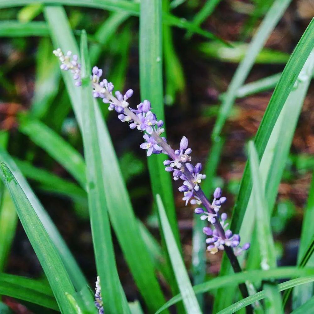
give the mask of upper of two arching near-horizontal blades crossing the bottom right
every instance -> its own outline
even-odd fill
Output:
[[[308,279],[310,276],[311,279]],[[204,282],[203,284],[198,284],[197,286],[193,287],[193,290],[196,294],[204,293],[208,291],[214,291],[217,288],[221,287],[227,287],[230,285],[238,285],[240,283],[245,282],[246,280],[254,282],[254,281],[261,281],[263,279],[282,279],[282,278],[291,278],[291,277],[305,277],[306,280],[309,280],[309,282],[314,280],[314,268],[297,268],[297,267],[280,267],[276,269],[270,269],[270,270],[251,270],[247,272],[242,273],[235,273],[228,276],[221,276],[216,277],[214,279],[211,279],[207,282]],[[297,280],[297,282],[304,283],[303,278],[293,279],[290,280],[290,282],[294,283],[294,280]],[[286,286],[289,283],[289,281],[285,282],[284,286]],[[280,285],[279,285],[280,286]],[[282,284],[281,284],[282,287]],[[289,289],[289,286],[286,288]],[[171,305],[176,304],[177,302],[182,300],[181,294],[174,296],[171,298],[167,303],[165,303],[164,306],[162,306],[155,314],[158,314],[162,311],[164,311],[166,308],[168,308]],[[258,301],[260,299],[257,299]],[[252,303],[255,302],[252,301]],[[251,304],[251,303],[249,303]]]

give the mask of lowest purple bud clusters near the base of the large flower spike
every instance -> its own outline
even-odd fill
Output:
[[[214,192],[214,200],[212,202],[212,207],[214,208],[216,214],[208,213],[207,211],[204,211],[203,208],[196,208],[195,214],[202,214],[201,219],[202,220],[208,220],[211,224],[215,223],[216,217],[219,216],[218,211],[221,207],[221,204],[225,203],[227,200],[224,196],[221,196],[222,191],[220,187],[217,187]],[[229,246],[233,248],[233,252],[236,256],[240,255],[242,251],[246,251],[249,247],[249,243],[245,243],[242,247],[240,246],[240,236],[235,234],[232,234],[232,231],[230,229],[227,229],[228,223],[226,223],[227,220],[227,214],[222,213],[219,217],[220,225],[225,230],[225,235],[222,237],[219,235],[218,231],[216,229],[211,229],[210,227],[204,227],[203,232],[210,236],[206,239],[206,243],[209,244],[207,246],[207,250],[211,254],[215,254],[218,251],[223,251],[225,249],[225,246]],[[227,229],[227,230],[226,230]]]

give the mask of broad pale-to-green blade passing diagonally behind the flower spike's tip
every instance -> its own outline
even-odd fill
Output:
[[[64,20],[66,16],[62,8],[49,7],[45,8],[46,18],[49,20],[51,30],[58,46],[63,50],[77,51],[73,35],[71,34],[68,23]],[[60,24],[64,27],[63,36],[58,36]],[[90,71],[90,70],[89,70]],[[70,73],[65,73],[66,80],[72,79]],[[85,115],[85,109],[78,106],[80,98],[78,97],[80,89],[72,82],[69,82],[68,89],[72,89],[71,100],[75,115],[81,120]],[[74,105],[75,103],[75,105]],[[84,105],[85,108],[85,105]],[[145,248],[145,244],[141,239],[138,229],[138,222],[135,219],[132,204],[130,202],[127,188],[123,181],[121,171],[119,169],[116,154],[111,143],[109,132],[104,124],[98,105],[95,105],[95,119],[97,126],[97,138],[100,145],[101,161],[100,166],[103,169],[104,189],[106,196],[107,210],[110,215],[112,226],[115,230],[118,241],[121,245],[124,257],[130,267],[138,288],[143,295],[147,306],[152,311],[156,310],[164,302],[158,281],[155,277],[153,263],[150,262],[149,252]],[[123,212],[123,215],[121,214]],[[138,260],[145,260],[144,264],[138,263]]]

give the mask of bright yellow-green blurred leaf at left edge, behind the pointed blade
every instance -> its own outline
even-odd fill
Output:
[[[10,194],[4,187],[2,181],[0,182],[0,190],[0,272],[3,272],[15,236],[18,216],[16,214],[15,206],[10,197]]]

